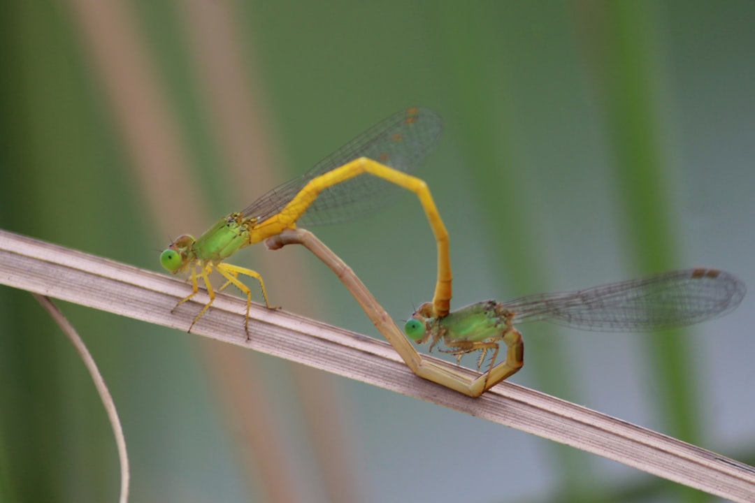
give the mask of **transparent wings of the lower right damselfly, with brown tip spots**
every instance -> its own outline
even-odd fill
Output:
[[[736,308],[746,292],[744,283],[727,272],[686,269],[501,305],[513,313],[514,324],[550,321],[583,330],[644,331],[721,316]]]

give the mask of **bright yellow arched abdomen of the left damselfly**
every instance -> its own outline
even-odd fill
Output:
[[[448,314],[451,304],[451,254],[448,249],[448,232],[445,229],[443,220],[440,217],[438,208],[433,201],[433,195],[427,187],[424,180],[411,176],[402,171],[395,170],[380,162],[369,158],[358,158],[328,171],[316,178],[310,180],[300,192],[289,201],[289,203],[276,216],[271,217],[265,222],[261,222],[255,231],[262,232],[261,235],[255,236],[255,241],[261,241],[272,235],[282,232],[284,228],[291,228],[315,201],[320,192],[345,182],[355,176],[369,173],[378,178],[384,179],[397,186],[414,192],[424,208],[427,219],[430,222],[430,228],[433,229],[437,247],[438,247],[438,275],[436,289],[433,295],[433,316],[445,317]],[[266,225],[271,225],[270,230],[263,231]]]

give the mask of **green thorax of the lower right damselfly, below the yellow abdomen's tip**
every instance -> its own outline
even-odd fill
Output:
[[[501,339],[507,327],[505,315],[497,311],[498,303],[492,300],[476,302],[451,311],[440,320],[433,320],[430,330],[443,330],[446,342],[479,342]]]

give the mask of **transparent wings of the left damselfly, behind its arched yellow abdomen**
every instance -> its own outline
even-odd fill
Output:
[[[311,179],[360,157],[411,173],[436,146],[441,133],[442,122],[432,110],[412,108],[398,112],[319,161],[307,173],[267,192],[242,214],[262,222],[280,213]],[[321,192],[299,223],[322,225],[354,219],[383,207],[399,190],[375,176],[356,176]]]

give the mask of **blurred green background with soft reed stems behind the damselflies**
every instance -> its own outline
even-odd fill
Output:
[[[159,270],[407,106],[455,307],[669,268],[755,285],[755,3],[0,3],[0,225]],[[405,195],[315,229],[402,320],[435,245]],[[257,250],[257,248],[260,248]],[[274,303],[379,337],[305,250],[234,257]],[[28,293],[0,288],[0,501],[114,501],[106,416]],[[116,400],[132,501],[710,501],[439,406],[62,305]],[[521,327],[513,381],[755,463],[753,300],[690,330]],[[473,365],[473,359],[464,360]]]

